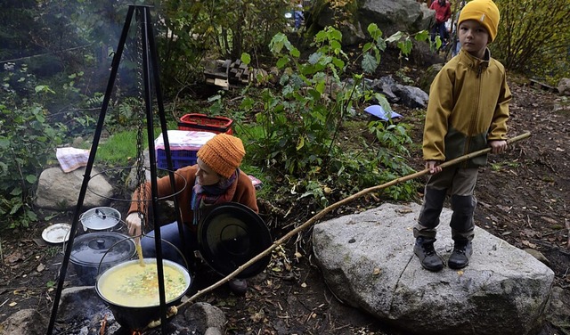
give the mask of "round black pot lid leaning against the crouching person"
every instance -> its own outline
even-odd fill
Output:
[[[208,211],[198,225],[200,253],[208,265],[223,275],[269,248],[271,233],[256,212],[237,202],[225,202]],[[236,275],[244,279],[261,273],[271,255],[256,261]]]

